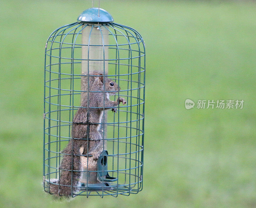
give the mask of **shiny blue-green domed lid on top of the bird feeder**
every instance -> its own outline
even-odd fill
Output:
[[[99,14],[99,15],[98,15]],[[80,22],[113,22],[114,19],[106,10],[99,8],[90,8],[84,10],[77,18]]]

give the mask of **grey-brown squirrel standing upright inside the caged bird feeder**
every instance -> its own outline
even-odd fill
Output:
[[[104,79],[103,75],[99,73],[94,74],[94,82],[92,83],[90,91],[97,92],[89,92],[89,108],[87,108],[87,96],[85,96],[84,100],[81,103],[81,107],[83,108],[78,108],[73,119],[72,138],[74,139],[69,140],[67,147],[62,151],[64,155],[60,163],[60,178],[51,179],[49,183],[49,192],[51,194],[54,194],[54,196],[56,196],[57,198],[64,197],[68,199],[72,196],[72,192],[75,193],[76,191],[78,191],[77,186],[79,185],[79,179],[82,171],[80,156],[92,155],[93,160],[97,160],[99,158],[99,153],[96,153],[94,151],[98,147],[100,140],[102,140],[102,137],[98,130],[100,129],[101,118],[103,116],[103,103],[105,110],[112,108],[113,112],[116,112],[115,107],[117,107],[119,103],[122,102],[123,105],[126,104],[124,98],[121,97],[117,98],[116,101],[109,100],[109,95],[115,95],[116,92],[118,92],[120,89],[121,88],[118,86],[118,84],[116,84],[113,80],[108,79],[107,77],[105,77]],[[87,140],[88,124],[89,140]]]

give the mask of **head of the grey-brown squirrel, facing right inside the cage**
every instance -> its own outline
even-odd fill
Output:
[[[121,90],[118,84],[116,84],[113,80],[108,79],[107,77],[105,77],[104,79],[103,74],[95,73],[94,75],[95,75],[94,78],[97,84],[99,84],[102,87],[102,90],[103,90],[103,86],[105,86],[105,92],[108,92],[109,95],[115,95],[116,92]]]

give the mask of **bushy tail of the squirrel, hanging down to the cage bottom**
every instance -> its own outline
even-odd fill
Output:
[[[72,170],[72,144],[68,143],[68,146],[62,153],[69,154],[64,155],[60,163],[60,179],[50,179],[50,194],[54,194],[57,198],[70,198],[72,192],[75,193],[78,188],[79,178],[81,175],[81,160],[79,156],[79,148],[76,148],[73,144],[73,171]],[[72,181],[72,190],[71,190]],[[47,187],[46,187],[47,188]]]

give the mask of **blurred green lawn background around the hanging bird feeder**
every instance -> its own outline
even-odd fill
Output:
[[[101,1],[147,52],[144,188],[52,202],[42,181],[44,45],[91,1],[0,2],[1,207],[255,207],[256,3]],[[189,98],[244,100],[190,109]]]

